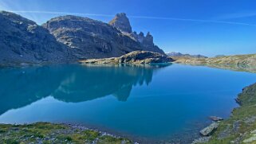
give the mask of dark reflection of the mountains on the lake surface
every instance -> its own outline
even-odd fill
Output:
[[[150,84],[153,72],[170,64],[80,65],[63,64],[0,69],[0,115],[49,95],[71,103],[106,95],[126,101],[137,84]]]

